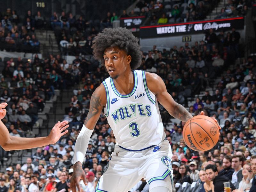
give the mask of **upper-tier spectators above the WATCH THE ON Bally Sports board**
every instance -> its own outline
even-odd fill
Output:
[[[150,25],[204,20],[218,3],[218,0],[140,0],[134,10],[129,14],[123,11],[121,17],[145,16],[150,19]],[[215,19],[245,16],[253,3],[228,0]]]

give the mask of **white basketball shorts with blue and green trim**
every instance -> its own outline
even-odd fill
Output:
[[[158,186],[172,190],[171,161],[172,149],[167,140],[140,151],[128,151],[116,144],[95,191],[127,192],[142,178],[147,181],[149,190]]]

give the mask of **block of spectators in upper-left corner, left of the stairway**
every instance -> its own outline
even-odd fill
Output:
[[[14,10],[8,8],[0,14],[0,50],[16,52],[39,52],[40,42],[36,39],[35,29],[42,28],[44,18],[40,12],[25,14],[24,20]]]

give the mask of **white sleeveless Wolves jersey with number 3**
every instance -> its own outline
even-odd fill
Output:
[[[145,71],[133,70],[133,75],[134,87],[127,95],[116,90],[112,78],[103,81],[107,94],[104,113],[118,145],[140,151],[158,145],[165,133],[156,96],[147,87]]]

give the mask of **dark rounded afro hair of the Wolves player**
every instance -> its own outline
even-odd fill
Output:
[[[118,47],[131,55],[131,69],[137,69],[141,64],[139,39],[126,28],[105,28],[92,41],[93,56],[104,65],[103,54],[110,47]]]

